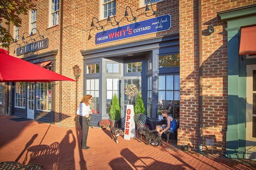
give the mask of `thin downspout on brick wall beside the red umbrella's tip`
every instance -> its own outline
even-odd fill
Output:
[[[62,75],[62,36],[63,36],[63,0],[60,1],[60,75]],[[62,81],[60,81],[60,109],[59,126],[61,126],[62,116]]]

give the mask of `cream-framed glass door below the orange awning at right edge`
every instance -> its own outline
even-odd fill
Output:
[[[256,65],[246,67],[246,159],[256,159]]]

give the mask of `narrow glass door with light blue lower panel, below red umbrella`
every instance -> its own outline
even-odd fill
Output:
[[[28,82],[27,102],[28,102],[27,118],[35,119],[35,112],[34,112],[34,83],[32,83],[32,82]]]

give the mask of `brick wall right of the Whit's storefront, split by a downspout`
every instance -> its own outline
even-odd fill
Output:
[[[253,0],[202,0],[203,150],[225,153],[227,131],[227,32],[217,12],[253,4]],[[255,3],[255,2],[254,2]],[[198,149],[198,3],[180,0],[180,128],[178,145]],[[208,34],[207,26],[215,32]],[[208,146],[206,139],[213,139]]]

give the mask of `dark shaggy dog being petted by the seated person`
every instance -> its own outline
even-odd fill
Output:
[[[147,127],[140,127],[140,134],[143,134],[147,140],[146,145],[150,144],[152,140],[157,142],[156,146],[162,146],[162,137],[158,136],[158,132],[156,130],[149,130]]]

